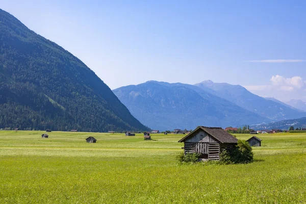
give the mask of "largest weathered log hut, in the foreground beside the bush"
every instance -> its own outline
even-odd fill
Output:
[[[185,153],[200,153],[202,159],[219,160],[220,152],[235,147],[238,140],[221,127],[198,126],[179,142],[184,142]]]

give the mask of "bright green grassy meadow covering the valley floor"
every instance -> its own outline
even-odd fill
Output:
[[[253,163],[223,166],[177,164],[182,135],[42,133],[0,131],[0,203],[306,203],[306,133],[258,135]]]

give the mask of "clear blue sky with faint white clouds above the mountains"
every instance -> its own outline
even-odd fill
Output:
[[[212,80],[306,100],[305,1],[0,1],[111,89]]]

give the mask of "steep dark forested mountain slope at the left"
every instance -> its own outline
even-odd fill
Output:
[[[0,9],[0,128],[148,130],[81,60]]]

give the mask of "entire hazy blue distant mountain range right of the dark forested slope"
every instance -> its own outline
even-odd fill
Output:
[[[148,81],[113,92],[137,119],[161,130],[193,129],[200,124],[262,124],[306,116],[306,112],[252,94],[240,85],[210,80],[195,85]]]

